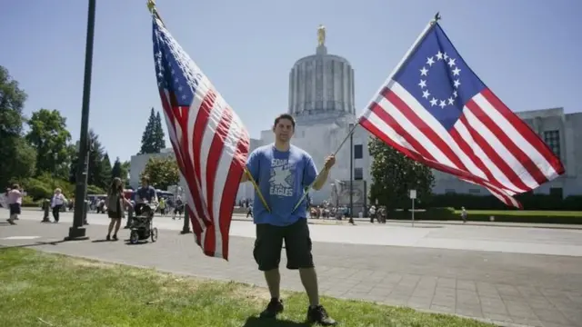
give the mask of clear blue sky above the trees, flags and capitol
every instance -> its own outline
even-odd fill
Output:
[[[328,52],[353,65],[361,112],[437,11],[467,64],[512,110],[582,109],[577,0],[158,0],[157,6],[252,137],[286,112],[289,70],[315,53],[317,25],[326,25]],[[60,110],[73,141],[81,122],[86,16],[82,0],[3,0],[0,12],[0,64],[28,94],[25,113]],[[145,0],[97,2],[90,127],[112,160],[139,151],[150,108],[161,105],[151,35]]]

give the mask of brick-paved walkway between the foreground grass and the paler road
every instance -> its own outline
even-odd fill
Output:
[[[231,236],[231,260],[226,262],[202,255],[192,234],[160,230],[156,243],[125,245],[95,242],[104,238],[105,226],[90,225],[90,241],[62,243],[68,227],[33,221],[0,224],[0,244],[28,244],[47,252],[265,285],[253,261],[250,238]],[[127,232],[120,232],[120,238],[127,238]],[[456,313],[504,325],[582,326],[579,257],[342,243],[313,246],[325,295]],[[283,289],[303,289],[296,272],[281,272]]]

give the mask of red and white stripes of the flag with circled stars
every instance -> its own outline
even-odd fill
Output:
[[[447,131],[416,98],[390,80],[360,117],[370,133],[418,162],[512,197],[537,188],[564,167],[539,136],[487,88]]]

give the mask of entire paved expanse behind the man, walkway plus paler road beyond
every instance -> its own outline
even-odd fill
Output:
[[[0,215],[3,213],[0,211]],[[70,215],[64,215],[63,220],[70,222]],[[37,213],[25,213],[17,226],[0,224],[0,244],[59,241],[70,225],[38,221]],[[90,215],[89,222],[92,240],[102,239],[105,217]],[[233,222],[229,263],[203,256],[192,242],[192,235],[176,232],[181,229],[181,222],[161,218],[156,223],[163,229],[157,243],[126,246],[121,242],[87,241],[35,248],[265,284],[251,255],[251,223]],[[378,225],[311,225],[311,229],[321,289],[326,295],[453,312],[496,322],[582,326],[580,231],[476,226],[412,229]],[[545,254],[560,251],[567,255]],[[284,288],[302,289],[296,273],[282,271],[282,274]]]

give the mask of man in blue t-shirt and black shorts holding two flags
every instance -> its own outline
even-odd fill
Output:
[[[259,196],[255,196],[253,215],[256,242],[253,255],[258,269],[265,273],[266,284],[271,293],[271,301],[265,311],[261,312],[261,317],[275,318],[278,313],[283,312],[283,302],[279,297],[281,276],[278,266],[285,240],[287,269],[299,270],[301,282],[309,298],[307,321],[325,326],[336,325],[336,321],[328,316],[319,303],[317,275],[306,220],[306,203],[296,205],[307,186],[313,183],[316,190],[324,186],[336,158],[333,155],[327,157],[324,171],[317,175],[311,156],[290,144],[295,132],[295,120],[291,115],[281,114],[276,117],[273,132],[275,144],[256,149],[249,155],[246,163],[248,172],[258,184],[268,206],[267,210]],[[245,174],[241,182],[248,180]]]

